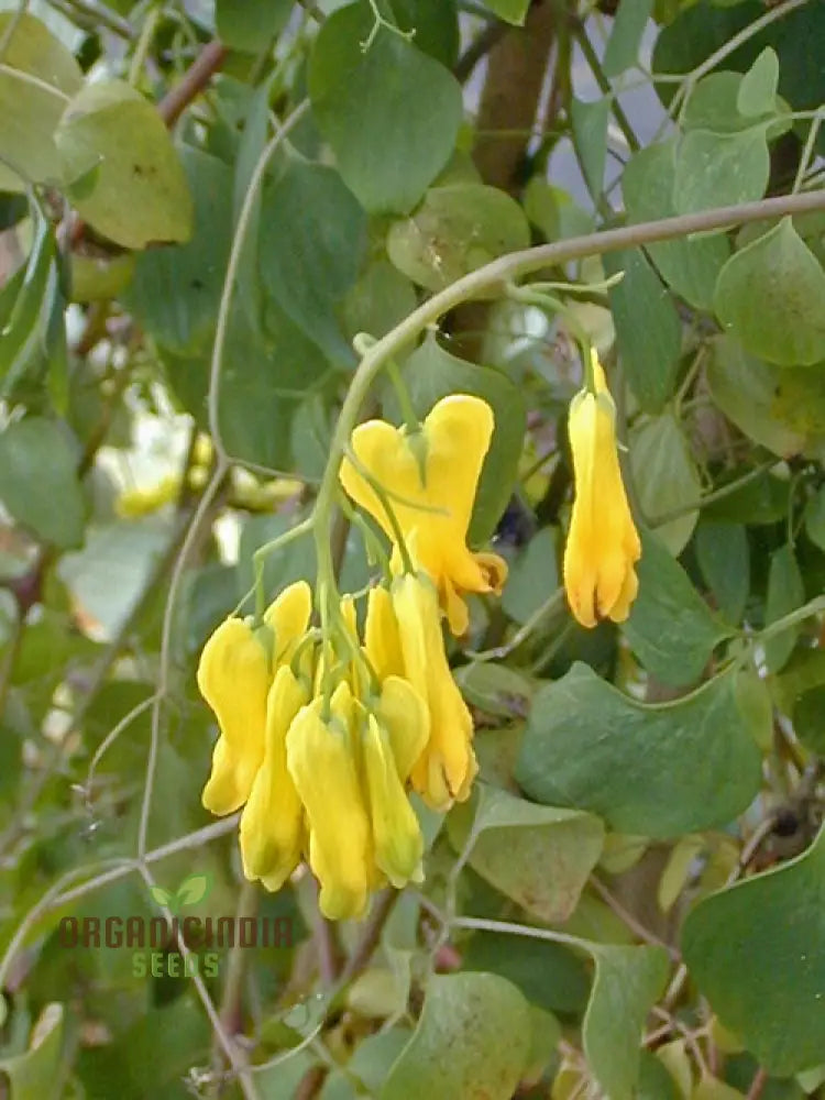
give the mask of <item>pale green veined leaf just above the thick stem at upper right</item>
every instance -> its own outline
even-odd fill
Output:
[[[676,212],[756,201],[765,195],[769,175],[765,129],[733,134],[690,130],[676,150]]]

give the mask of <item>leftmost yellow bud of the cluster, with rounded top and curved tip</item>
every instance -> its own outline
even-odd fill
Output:
[[[204,647],[197,679],[220,726],[202,803],[213,814],[231,814],[249,798],[264,756],[270,662],[248,623],[221,623]]]

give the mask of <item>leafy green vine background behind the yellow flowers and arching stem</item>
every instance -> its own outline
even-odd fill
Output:
[[[594,245],[542,273],[561,312],[502,286],[410,342],[419,411],[495,410],[472,538],[512,568],[453,654],[482,782],[420,891],[332,928],[307,875],[242,886],[194,682],[311,506],[356,333],[531,244],[822,188],[825,7],[0,9],[0,1093],[825,1096],[823,209]],[[581,331],[645,528],[590,632]],[[336,554],[367,583],[343,522]],[[267,590],[312,571],[292,543]],[[289,942],[195,978],[62,944],[173,901]]]

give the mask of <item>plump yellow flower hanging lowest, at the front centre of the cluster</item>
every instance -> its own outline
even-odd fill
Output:
[[[362,916],[374,878],[372,828],[361,785],[353,730],[353,700],[342,681],[332,694],[301,707],[286,735],[289,774],[309,825],[309,865],[324,916]]]

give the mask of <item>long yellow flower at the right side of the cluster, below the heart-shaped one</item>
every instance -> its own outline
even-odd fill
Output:
[[[464,801],[479,770],[471,745],[473,719],[444,652],[436,590],[409,573],[393,582],[404,675],[427,703],[430,737],[413,768],[413,787],[433,810]]]

